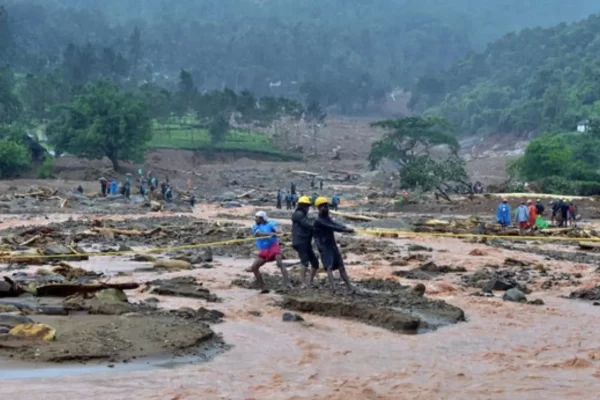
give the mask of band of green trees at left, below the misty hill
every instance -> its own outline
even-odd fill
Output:
[[[123,89],[119,79],[111,81],[103,74],[80,80],[77,73],[74,79],[73,71],[80,71],[79,64],[87,63],[93,51],[71,49],[86,56],[73,63],[65,59],[55,74],[15,79],[10,70],[0,70],[0,178],[26,170],[32,159],[47,161],[46,152],[27,134],[27,128],[42,121],[49,121],[46,133],[57,155],[107,157],[118,171],[121,160],[143,159],[153,123],[168,126],[187,117],[192,121],[188,124],[206,129],[211,144],[218,145],[233,127],[252,129],[301,118],[318,124],[326,115],[318,103],[309,103],[305,109],[291,99],[255,97],[249,91],[200,92],[186,70],[180,71],[172,92],[153,83]]]

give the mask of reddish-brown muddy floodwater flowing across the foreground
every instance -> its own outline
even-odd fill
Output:
[[[2,228],[14,224],[5,219]],[[208,361],[143,360],[114,368],[32,365],[4,358],[0,359],[0,394],[11,400],[598,398],[600,307],[562,297],[599,285],[595,265],[450,238],[392,242],[403,248],[409,243],[430,247],[427,256],[432,261],[464,267],[465,274],[517,258],[543,264],[549,271],[577,274],[578,283],[561,281],[547,290],[541,289],[541,281],[532,283],[527,297],[544,303],[536,306],[502,301],[501,293],[471,296],[477,289],[459,284],[454,274],[407,280],[394,275],[398,268],[378,257],[349,255],[356,261],[348,266],[352,279],[422,282],[427,296],[460,307],[466,315],[465,322],[407,335],[313,314],[302,314],[302,323],[283,322],[283,310],[275,304],[279,295],[259,295],[232,285],[236,278],[250,278],[244,269],[251,259],[216,257],[212,269],[160,277],[193,275],[222,299],[211,307],[225,314],[224,322],[211,328],[222,335],[229,350]],[[128,273],[139,267],[119,257],[92,257],[73,264],[105,273]],[[277,273],[273,266],[265,271]],[[134,276],[144,281],[158,275]],[[141,290],[128,295],[139,300],[148,296]],[[157,297],[166,308],[206,305],[197,299]]]

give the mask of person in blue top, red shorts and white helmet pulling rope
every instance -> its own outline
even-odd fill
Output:
[[[275,261],[277,266],[281,270],[283,276],[283,283],[291,289],[290,279],[288,277],[287,270],[283,265],[283,258],[281,256],[281,248],[279,247],[279,238],[277,234],[279,229],[277,228],[277,222],[269,221],[267,213],[259,211],[255,215],[255,224],[252,226],[252,234],[256,236],[256,247],[258,248],[258,256],[252,264],[252,272],[256,278],[256,283],[261,293],[269,293],[269,289],[265,284],[265,281],[260,273],[260,267],[268,262]]]

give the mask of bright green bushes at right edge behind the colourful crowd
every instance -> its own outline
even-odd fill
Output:
[[[538,183],[545,192],[600,194],[600,124],[585,133],[545,134],[532,140],[511,165],[517,178]]]

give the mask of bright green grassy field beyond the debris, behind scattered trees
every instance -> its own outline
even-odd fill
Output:
[[[189,121],[192,122],[192,121]],[[270,155],[281,159],[297,159],[293,154],[277,149],[267,135],[251,131],[231,130],[216,146],[210,142],[208,130],[181,121],[169,125],[154,123],[149,148],[240,151]]]

